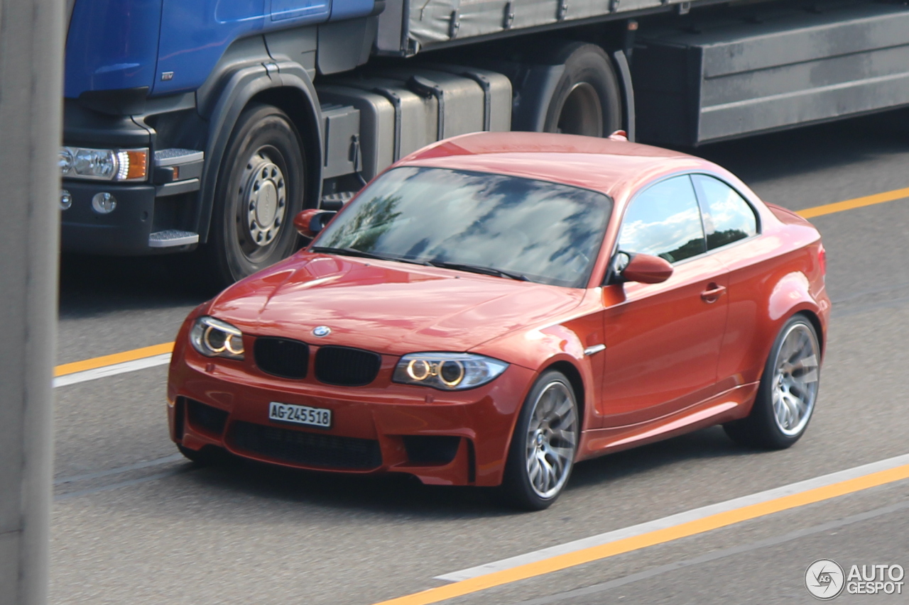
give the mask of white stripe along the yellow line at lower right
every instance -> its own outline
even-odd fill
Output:
[[[849,481],[851,479],[862,477],[873,472],[887,471],[889,469],[904,466],[905,464],[909,464],[909,454],[896,456],[894,458],[888,458],[882,461],[872,462],[870,464],[864,464],[863,466],[857,466],[853,469],[847,469],[845,471],[832,472],[830,474],[815,477],[814,479],[809,479],[806,481],[790,483],[789,485],[784,485],[783,487],[775,488],[774,490],[759,491],[758,493],[743,496],[742,498],[735,498],[734,500],[711,504],[709,506],[704,506],[692,511],[680,512],[674,515],[670,515],[669,517],[664,517],[663,519],[647,521],[645,523],[626,527],[621,530],[607,531],[596,536],[566,542],[564,544],[552,546],[547,549],[534,550],[533,552],[527,552],[516,557],[496,560],[491,563],[485,563],[484,565],[477,565],[476,567],[471,567],[466,570],[453,571],[442,576],[435,576],[435,580],[457,582],[461,580],[469,580],[478,576],[483,576],[487,573],[493,573],[495,571],[510,570],[521,565],[534,563],[539,560],[550,559],[552,557],[568,552],[584,550],[594,546],[601,546],[609,542],[624,540],[625,538],[633,538],[634,536],[639,536],[651,531],[664,530],[676,525],[681,525],[682,523],[698,521],[717,513],[734,511],[744,508],[745,506],[751,506],[753,504],[759,504],[765,501],[776,500],[777,498],[782,498],[784,496],[789,496],[795,493],[801,493],[803,491],[814,490],[816,488],[825,487],[827,485],[833,485],[834,483],[839,483],[841,481]]]

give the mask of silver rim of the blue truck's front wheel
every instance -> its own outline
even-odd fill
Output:
[[[250,243],[262,248],[275,241],[285,223],[285,175],[263,148],[250,158],[240,182],[245,183],[245,234]]]

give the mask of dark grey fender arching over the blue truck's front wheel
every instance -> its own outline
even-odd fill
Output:
[[[279,71],[280,70],[280,71]],[[322,112],[309,74],[302,65],[246,65],[225,75],[225,84],[209,120],[205,144],[205,167],[196,224],[199,241],[205,243],[211,231],[217,177],[225,163],[225,149],[235,125],[251,104],[273,104],[295,124],[305,154],[306,201],[318,203],[322,192]]]

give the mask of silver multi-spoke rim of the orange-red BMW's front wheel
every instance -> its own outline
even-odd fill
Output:
[[[531,488],[553,498],[568,480],[577,450],[577,413],[563,382],[550,382],[534,402],[527,423],[526,471]]]

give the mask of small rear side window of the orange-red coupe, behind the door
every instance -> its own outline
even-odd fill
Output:
[[[757,233],[754,209],[732,187],[704,174],[693,174],[692,180],[703,204],[708,250]]]

